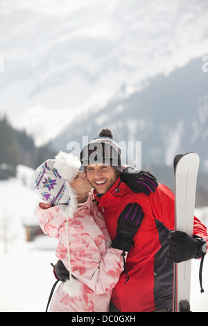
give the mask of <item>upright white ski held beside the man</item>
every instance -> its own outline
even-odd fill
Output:
[[[191,237],[198,167],[196,153],[175,156],[175,231],[186,232]],[[173,275],[173,312],[190,311],[191,259],[175,263]]]

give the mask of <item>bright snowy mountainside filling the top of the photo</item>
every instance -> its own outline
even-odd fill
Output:
[[[128,96],[207,54],[207,4],[1,0],[0,111],[46,144],[123,85]]]

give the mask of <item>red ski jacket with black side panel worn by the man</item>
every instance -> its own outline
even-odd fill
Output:
[[[128,252],[125,273],[112,291],[112,304],[122,312],[154,311],[171,307],[173,302],[173,263],[166,256],[168,233],[174,230],[175,200],[168,187],[159,184],[155,193],[136,194],[121,182],[120,177],[106,194],[99,197],[94,191],[98,209],[102,212],[112,240],[117,220],[126,205],[138,203],[144,219]],[[193,234],[207,240],[207,228],[194,218]]]

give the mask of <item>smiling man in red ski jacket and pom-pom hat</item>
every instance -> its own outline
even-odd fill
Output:
[[[173,301],[173,261],[202,256],[207,229],[194,219],[192,239],[183,232],[174,237],[175,203],[170,189],[160,185],[149,194],[135,193],[122,182],[121,148],[110,130],[103,129],[81,153],[81,162],[94,188],[112,247],[125,239],[116,237],[121,212],[137,216],[144,212],[133,246],[128,252],[126,270],[112,292],[112,311],[170,311]],[[141,209],[138,209],[141,208]],[[168,246],[170,244],[170,247]],[[184,250],[186,248],[186,250]]]

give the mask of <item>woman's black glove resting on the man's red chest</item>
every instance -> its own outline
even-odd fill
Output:
[[[128,204],[119,215],[116,237],[112,241],[112,248],[129,251],[137,230],[144,218],[144,212],[137,203]]]

